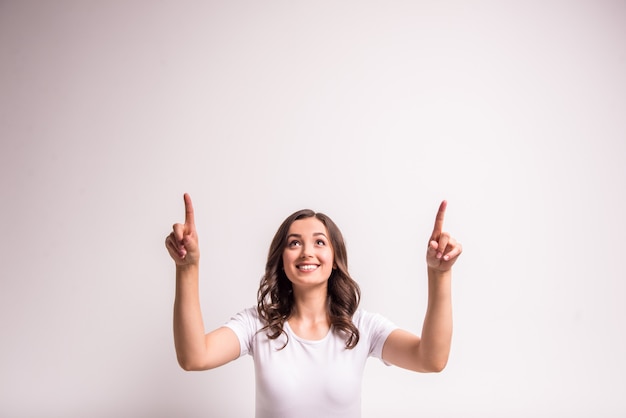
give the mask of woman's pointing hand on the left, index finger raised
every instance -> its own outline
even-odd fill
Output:
[[[185,193],[183,199],[185,200],[185,223],[174,224],[172,233],[165,238],[165,247],[177,266],[198,264],[200,261],[191,197]]]

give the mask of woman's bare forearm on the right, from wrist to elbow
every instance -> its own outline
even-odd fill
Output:
[[[441,371],[452,343],[452,271],[428,269],[428,307],[422,327],[419,356],[429,369]]]

